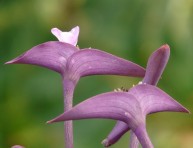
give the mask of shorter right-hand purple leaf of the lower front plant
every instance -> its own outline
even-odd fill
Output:
[[[185,107],[153,85],[136,85],[129,90],[129,94],[135,96],[140,102],[145,114],[163,111],[189,113]]]

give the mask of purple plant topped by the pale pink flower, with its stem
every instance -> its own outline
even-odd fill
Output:
[[[62,76],[64,111],[72,108],[74,89],[81,77],[90,75],[122,75],[143,77],[141,66],[104,51],[79,49],[79,27],[70,32],[53,28],[51,32],[59,41],[49,41],[37,45],[6,64],[32,64],[58,72]],[[73,148],[72,121],[65,122],[65,147]]]

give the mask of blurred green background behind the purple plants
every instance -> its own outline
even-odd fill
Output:
[[[4,63],[31,47],[56,38],[52,27],[80,26],[78,45],[93,47],[146,66],[161,45],[171,56],[159,87],[193,112],[192,0],[0,0],[0,147],[64,147],[63,123],[45,122],[63,112],[59,74],[30,65]],[[82,78],[74,104],[114,88],[129,88],[139,78]],[[148,116],[148,133],[156,148],[192,148],[192,114]],[[74,122],[75,148],[99,148],[113,120]],[[112,148],[128,147],[129,133]]]

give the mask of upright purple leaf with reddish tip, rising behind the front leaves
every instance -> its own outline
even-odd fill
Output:
[[[170,47],[163,45],[150,56],[143,83],[156,85],[168,62],[170,56]]]

